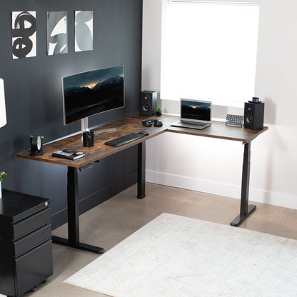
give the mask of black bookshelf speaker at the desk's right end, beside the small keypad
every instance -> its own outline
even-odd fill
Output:
[[[246,102],[244,104],[244,128],[258,130],[263,129],[264,103]]]

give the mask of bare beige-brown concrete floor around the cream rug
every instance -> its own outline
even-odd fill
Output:
[[[256,211],[238,228],[297,239],[297,210],[263,203],[253,204],[257,206]],[[229,224],[238,215],[239,208],[238,199],[153,183],[146,183],[146,198],[140,200],[136,198],[134,185],[80,216],[80,240],[108,251],[163,212]],[[66,237],[67,226],[56,229],[53,235]],[[26,296],[106,297],[63,283],[98,256],[53,244],[54,275]]]

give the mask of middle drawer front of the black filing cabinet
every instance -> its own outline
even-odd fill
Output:
[[[17,257],[21,253],[28,251],[33,246],[37,246],[42,241],[51,238],[51,224],[47,224],[36,231],[29,233],[27,236],[14,241],[14,256]]]

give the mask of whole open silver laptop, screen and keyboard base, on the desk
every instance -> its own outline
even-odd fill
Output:
[[[204,129],[211,125],[211,101],[181,99],[181,119],[171,126]]]

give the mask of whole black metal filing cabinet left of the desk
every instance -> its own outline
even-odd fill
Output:
[[[53,274],[48,199],[2,190],[0,293],[22,296]]]

